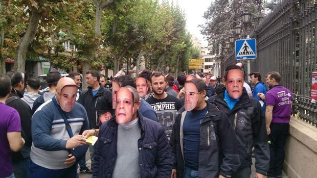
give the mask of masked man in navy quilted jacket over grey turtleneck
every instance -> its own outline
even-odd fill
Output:
[[[116,115],[101,125],[93,177],[169,177],[171,150],[164,128],[138,111],[140,97],[121,87]]]

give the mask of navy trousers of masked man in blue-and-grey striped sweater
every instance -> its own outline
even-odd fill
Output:
[[[30,163],[30,177],[45,178],[78,178],[77,164],[65,169],[48,169],[32,162]]]

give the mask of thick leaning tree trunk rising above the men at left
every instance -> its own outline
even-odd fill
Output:
[[[28,47],[35,37],[38,22],[41,19],[41,14],[35,9],[32,11],[28,28],[22,38],[19,40],[19,44],[16,48],[16,56],[14,69],[18,72],[25,72],[25,65],[28,53]]]

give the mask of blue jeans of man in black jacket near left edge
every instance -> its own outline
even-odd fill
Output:
[[[12,162],[12,167],[15,178],[30,177],[30,158]]]

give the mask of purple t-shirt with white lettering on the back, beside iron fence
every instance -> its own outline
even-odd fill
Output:
[[[293,93],[287,88],[277,85],[265,94],[266,106],[273,107],[272,122],[289,123]]]

